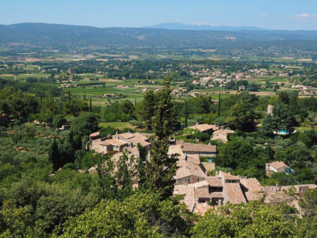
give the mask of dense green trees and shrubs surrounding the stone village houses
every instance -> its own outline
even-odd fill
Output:
[[[174,136],[200,143],[198,139],[217,145],[216,169],[255,177],[263,185],[316,183],[317,99],[243,92],[221,98],[218,105],[211,96],[176,101],[168,77],[160,90],[150,90],[136,105],[126,100],[90,109],[85,99],[32,89],[29,84],[37,84],[28,81],[24,86],[1,81],[0,112],[8,120],[0,133],[0,238],[316,236],[316,190],[303,194],[300,211],[259,201],[229,204],[205,216],[192,214],[172,196],[177,159],[167,151]],[[274,106],[272,116],[265,115],[268,104]],[[216,123],[236,131],[225,144],[211,141],[211,133],[180,130],[183,118],[188,125]],[[39,123],[30,123],[34,119]],[[140,145],[140,159],[123,153],[112,160],[111,153],[86,151],[90,133],[119,131],[99,128],[103,120],[135,120],[153,130],[151,159]],[[70,130],[57,129],[65,124]],[[275,133],[301,125],[312,127]],[[284,161],[294,173],[267,177],[265,163],[275,160]],[[97,174],[84,173],[96,165]],[[140,181],[136,189],[135,179]]]

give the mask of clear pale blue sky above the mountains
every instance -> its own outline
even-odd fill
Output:
[[[317,0],[1,0],[0,24],[140,27],[166,22],[317,30]]]

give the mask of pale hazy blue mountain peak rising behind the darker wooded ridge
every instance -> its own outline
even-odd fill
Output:
[[[179,22],[160,23],[153,26],[144,26],[143,28],[166,29],[166,30],[195,30],[195,31],[239,31],[239,30],[269,30],[255,26],[219,26],[211,24],[189,24]]]

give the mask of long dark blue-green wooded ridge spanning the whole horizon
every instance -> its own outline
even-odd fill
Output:
[[[203,27],[203,26],[201,26]],[[205,26],[204,26],[205,27]],[[164,47],[258,49],[268,47],[316,51],[317,31],[172,30],[158,28],[92,27],[46,23],[0,25],[0,46],[24,44],[42,48]],[[300,47],[300,49],[298,48]],[[296,48],[296,49],[295,49]]]

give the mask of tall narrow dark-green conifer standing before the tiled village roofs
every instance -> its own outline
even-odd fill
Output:
[[[169,86],[171,78],[165,79],[164,87],[157,94],[158,101],[152,118],[155,136],[152,138],[151,159],[147,161],[145,169],[145,188],[158,192],[162,199],[172,196],[177,170],[177,156],[167,154],[174,118]]]

